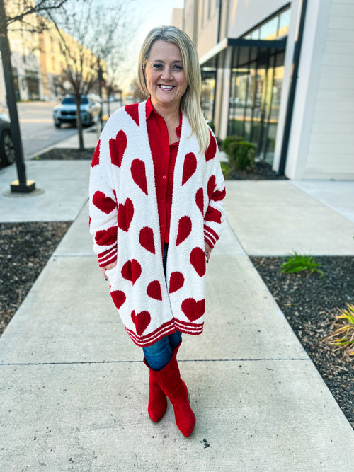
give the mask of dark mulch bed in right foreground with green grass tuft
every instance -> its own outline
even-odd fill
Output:
[[[347,303],[354,303],[354,257],[321,256],[315,259],[321,263],[325,278],[316,272],[282,274],[280,265],[284,258],[251,257],[292,330],[354,427],[354,359],[324,341],[335,330],[339,310],[346,309]]]

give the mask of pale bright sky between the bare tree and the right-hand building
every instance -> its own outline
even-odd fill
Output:
[[[132,79],[137,76],[137,61],[142,42],[149,30],[154,26],[169,25],[173,8],[183,8],[184,0],[135,0],[136,8],[144,18],[140,23],[135,35],[135,39],[127,50],[124,69],[127,70],[125,80],[122,80],[120,86],[127,90]]]

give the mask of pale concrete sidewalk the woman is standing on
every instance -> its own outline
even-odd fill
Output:
[[[354,255],[353,182],[227,183],[205,332],[178,353],[186,439],[171,405],[149,420],[142,352],[91,249],[89,162],[28,165],[45,191],[3,196],[1,221],[74,223],[0,338],[1,471],[354,471],[353,429],[249,259]]]

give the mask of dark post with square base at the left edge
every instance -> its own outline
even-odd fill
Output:
[[[11,192],[29,193],[35,190],[35,181],[27,180],[25,172],[25,160],[23,159],[23,149],[21,142],[20,125],[18,122],[17,104],[15,88],[13,86],[13,74],[11,67],[11,50],[8,42],[6,12],[4,0],[0,0],[0,50],[2,64],[4,68],[4,79],[6,86],[6,101],[8,113],[11,120],[11,136],[13,149],[16,156],[16,167],[18,180],[11,182]]]

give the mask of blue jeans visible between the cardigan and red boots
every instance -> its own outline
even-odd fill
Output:
[[[165,244],[163,260],[165,277],[168,249],[169,245]],[[178,346],[179,342],[181,341],[181,337],[182,333],[180,331],[176,331],[175,333],[172,333],[160,339],[152,346],[143,347],[142,350],[149,366],[154,370],[164,369],[164,367],[169,364],[172,357],[173,349]]]

